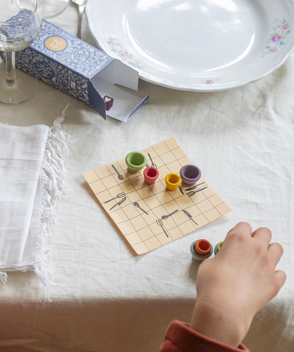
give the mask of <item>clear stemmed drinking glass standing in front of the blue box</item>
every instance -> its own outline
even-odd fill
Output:
[[[37,0],[0,0],[0,10],[0,51],[6,56],[6,71],[2,64],[0,72],[0,102],[17,104],[31,98],[38,89],[37,78],[15,68],[15,52],[27,48],[38,37],[41,7]]]

